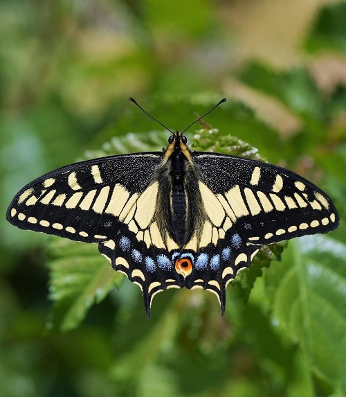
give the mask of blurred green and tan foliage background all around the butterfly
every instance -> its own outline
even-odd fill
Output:
[[[0,397],[346,396],[345,21],[327,0],[0,2]],[[129,96],[180,130],[226,96],[205,121],[327,191],[340,227],[245,272],[225,317],[169,290],[148,321],[95,245],[4,216],[54,168],[161,150]]]

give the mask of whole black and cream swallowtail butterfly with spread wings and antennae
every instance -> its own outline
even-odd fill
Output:
[[[113,269],[140,287],[148,318],[158,292],[182,287],[213,292],[224,315],[228,283],[262,245],[327,233],[338,227],[338,213],[292,171],[193,152],[183,132],[171,132],[162,152],[47,173],[17,193],[6,217],[21,229],[98,243]]]

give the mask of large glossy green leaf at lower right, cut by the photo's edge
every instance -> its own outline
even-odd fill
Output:
[[[307,355],[313,371],[346,392],[346,245],[327,236],[290,243],[264,278],[273,323]]]

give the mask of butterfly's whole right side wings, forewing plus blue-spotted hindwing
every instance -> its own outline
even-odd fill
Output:
[[[334,204],[317,186],[289,170],[251,159],[192,152],[206,213],[188,288],[217,294],[224,312],[226,286],[251,264],[260,245],[338,226]]]

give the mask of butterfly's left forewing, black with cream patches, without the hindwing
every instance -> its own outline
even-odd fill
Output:
[[[149,186],[161,158],[161,152],[147,152],[59,168],[22,188],[6,218],[21,229],[71,240],[107,240]]]

